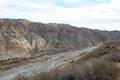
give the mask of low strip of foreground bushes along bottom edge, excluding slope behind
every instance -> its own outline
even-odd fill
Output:
[[[31,78],[18,75],[14,80],[115,80],[119,73],[115,63],[92,59],[84,64],[73,63],[62,70],[36,73]]]

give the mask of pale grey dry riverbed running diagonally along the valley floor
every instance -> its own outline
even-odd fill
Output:
[[[41,62],[40,58],[34,59],[34,63],[29,63],[25,65],[21,65],[14,69],[10,69],[7,71],[0,72],[0,80],[11,80],[15,76],[19,74],[23,74],[26,76],[32,75],[34,72],[47,72],[50,71],[60,65],[66,64],[71,60],[77,60],[80,58],[81,53],[90,52],[94,50],[95,47],[86,48],[84,50],[77,50],[74,52],[65,52],[59,53],[55,55],[46,55],[47,60]]]

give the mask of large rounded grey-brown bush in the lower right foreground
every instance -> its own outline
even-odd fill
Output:
[[[73,70],[75,80],[114,80],[120,73],[115,63],[104,59],[91,59]]]

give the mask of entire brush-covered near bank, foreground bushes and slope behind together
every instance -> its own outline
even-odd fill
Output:
[[[119,80],[119,52],[118,43],[106,43],[62,69],[31,77],[18,75],[14,80]]]

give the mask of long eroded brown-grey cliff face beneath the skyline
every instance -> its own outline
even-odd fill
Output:
[[[56,48],[85,48],[113,40],[120,40],[119,31],[91,30],[68,24],[42,24],[23,19],[0,19],[0,58],[3,59],[29,57],[33,52]]]

